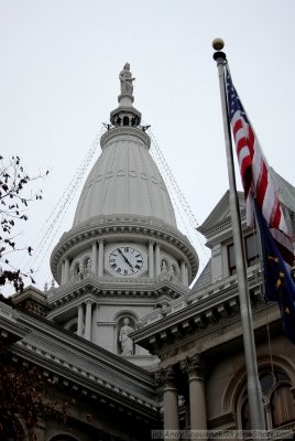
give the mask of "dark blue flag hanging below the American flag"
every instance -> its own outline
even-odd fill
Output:
[[[255,207],[263,254],[265,295],[280,305],[285,335],[295,343],[295,282],[283,260],[270,228]]]

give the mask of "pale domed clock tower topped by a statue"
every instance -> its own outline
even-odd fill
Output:
[[[150,155],[151,140],[133,107],[127,63],[119,106],[100,140],[73,227],[51,257],[58,288],[48,291],[50,318],[92,343],[149,366],[153,357],[129,334],[159,306],[183,298],[198,257],[176,225],[166,185]]]

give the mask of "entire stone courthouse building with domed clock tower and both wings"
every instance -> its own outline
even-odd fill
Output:
[[[35,439],[250,429],[229,192],[198,228],[210,259],[192,287],[198,256],[150,154],[129,64],[120,87],[73,226],[51,256],[57,287],[28,287],[12,305],[0,303],[1,343],[13,363],[37,366],[48,395],[69,404],[67,421],[41,421]],[[295,189],[272,176],[295,230]],[[295,430],[294,345],[277,304],[264,300],[259,239],[245,226],[243,194],[239,202],[265,424]],[[4,413],[30,440],[21,416]]]

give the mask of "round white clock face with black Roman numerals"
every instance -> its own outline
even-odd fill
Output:
[[[143,257],[132,247],[117,247],[109,256],[109,266],[119,276],[135,275],[143,266]]]

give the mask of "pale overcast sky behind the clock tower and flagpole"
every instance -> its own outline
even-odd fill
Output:
[[[0,151],[19,154],[32,175],[51,171],[39,183],[43,202],[19,228],[25,245],[36,248],[43,238],[33,262],[41,289],[87,173],[54,237],[52,213],[118,105],[125,62],[136,78],[134,106],[198,224],[228,189],[216,36],[226,41],[233,83],[269,163],[295,183],[294,22],[294,0],[0,0]],[[92,162],[99,153],[98,147]],[[11,261],[28,265],[24,255]]]

